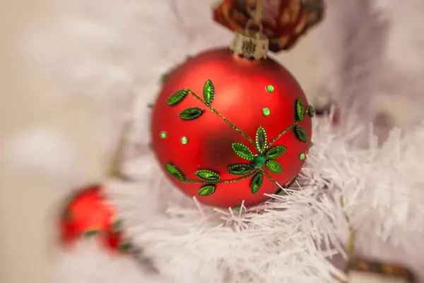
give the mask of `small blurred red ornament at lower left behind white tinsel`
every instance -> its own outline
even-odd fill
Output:
[[[90,185],[74,194],[59,219],[61,242],[65,245],[85,238],[98,237],[103,246],[127,250],[116,211],[102,195],[102,185]]]

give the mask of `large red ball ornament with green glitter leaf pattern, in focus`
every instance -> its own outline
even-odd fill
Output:
[[[273,59],[209,50],[167,76],[151,118],[153,151],[190,197],[248,207],[298,175],[313,115],[298,82]]]

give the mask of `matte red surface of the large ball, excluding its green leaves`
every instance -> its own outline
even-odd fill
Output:
[[[179,190],[215,207],[237,207],[242,201],[246,206],[264,202],[268,199],[264,194],[273,194],[279,189],[266,176],[256,193],[251,192],[252,178],[246,178],[235,183],[217,184],[212,195],[200,196],[198,192],[201,184],[184,183],[172,178],[165,170],[165,164],[172,163],[189,180],[199,180],[195,172],[200,169],[218,173],[220,180],[230,180],[239,176],[228,173],[228,166],[249,163],[235,154],[233,143],[245,144],[257,154],[254,145],[249,144],[242,134],[194,96],[189,94],[181,103],[167,105],[172,93],[186,88],[203,98],[204,83],[207,80],[213,82],[216,91],[211,107],[242,129],[252,140],[260,126],[264,127],[268,141],[271,141],[293,125],[296,122],[297,100],[300,98],[306,109],[307,99],[293,76],[273,59],[242,59],[228,48],[223,48],[191,57],[177,67],[167,76],[155,102],[151,119],[153,150],[160,166]],[[267,91],[267,86],[273,86],[273,91]],[[201,108],[203,114],[195,120],[179,118],[182,110],[192,107]],[[264,108],[269,108],[269,115],[264,115]],[[280,185],[290,183],[298,175],[305,162],[304,156],[300,156],[306,155],[310,148],[311,118],[305,115],[298,125],[305,129],[308,141],[300,141],[294,130],[290,129],[270,146],[287,147],[285,154],[276,158],[283,166],[283,173],[269,173]],[[182,143],[184,137],[187,138],[187,144]]]

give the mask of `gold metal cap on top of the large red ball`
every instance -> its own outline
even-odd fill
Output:
[[[269,39],[261,31],[254,32],[246,29],[243,33],[236,33],[230,49],[240,57],[247,59],[266,59],[268,57]]]

